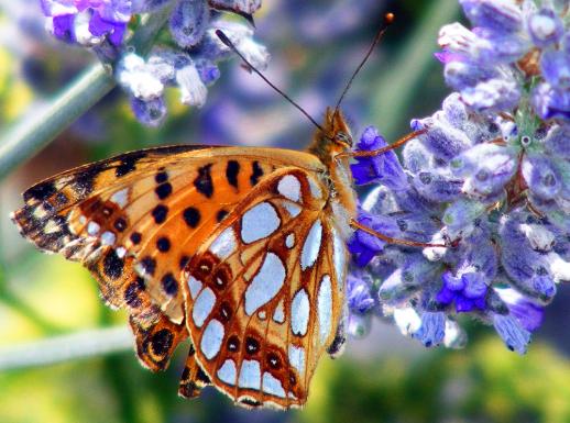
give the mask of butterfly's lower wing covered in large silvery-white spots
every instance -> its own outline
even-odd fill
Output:
[[[317,363],[333,344],[347,253],[329,194],[316,174],[276,170],[185,270],[190,358],[242,405],[303,405]]]

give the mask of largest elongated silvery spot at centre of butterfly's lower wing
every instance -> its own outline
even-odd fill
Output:
[[[267,253],[260,270],[253,277],[245,290],[245,313],[252,315],[255,311],[271,301],[283,287],[285,266],[274,253]]]

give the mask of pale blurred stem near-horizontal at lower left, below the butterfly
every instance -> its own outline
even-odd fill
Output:
[[[87,330],[0,348],[0,370],[47,366],[132,348],[132,333],[124,325]]]

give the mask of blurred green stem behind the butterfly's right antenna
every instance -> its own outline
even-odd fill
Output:
[[[370,92],[374,93],[370,108],[371,122],[377,125],[386,140],[393,141],[402,135],[396,133],[398,127],[410,119],[406,113],[406,107],[412,102],[421,101],[421,90],[418,90],[418,86],[426,77],[430,65],[436,64],[434,53],[437,51],[438,31],[459,15],[457,0],[430,3],[419,25],[410,33],[397,56],[386,64],[388,69],[383,70],[384,77],[370,89]]]

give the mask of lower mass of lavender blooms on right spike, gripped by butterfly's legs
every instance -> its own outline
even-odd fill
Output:
[[[570,222],[556,208],[551,213],[556,219],[549,221],[522,208],[496,204],[511,201],[515,182],[525,189],[517,194],[526,193],[531,201],[560,201],[567,175],[560,168],[568,162],[563,153],[549,152],[564,149],[566,126],[537,131],[527,140],[516,123],[473,112],[457,93],[443,101],[441,111],[413,125],[427,133],[406,144],[402,153],[399,166],[412,183],[404,188],[379,182],[362,202],[359,222],[392,238],[446,246],[404,246],[355,231],[349,249],[355,264],[366,268],[352,272],[359,280],[370,272],[377,281],[380,308],[372,307],[368,297],[370,283],[350,282],[359,288],[351,288],[354,294],[349,303],[352,309],[360,301],[371,304],[371,310],[382,311],[398,325],[404,324],[404,315],[416,315],[421,322],[409,323],[414,330],[403,333],[426,346],[462,345],[464,336],[452,315],[473,315],[493,325],[509,348],[524,353],[529,331],[540,324],[541,304],[556,294],[556,282],[570,279],[570,271],[563,270],[570,268],[570,246],[564,243]],[[430,136],[432,127],[437,131]],[[371,129],[364,135],[364,141],[372,142],[380,136]],[[357,174],[361,170],[353,167]],[[392,170],[380,167],[377,171],[375,179],[382,181],[381,172]],[[453,190],[431,187],[452,187],[453,181],[459,182]],[[504,288],[520,292],[525,301],[501,296]],[[369,327],[365,315],[373,314],[371,310],[353,313],[357,332]]]

